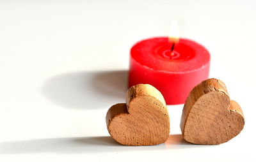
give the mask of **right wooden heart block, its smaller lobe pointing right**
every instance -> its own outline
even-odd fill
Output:
[[[238,135],[243,127],[241,107],[230,101],[227,88],[220,80],[204,80],[189,93],[180,122],[186,141],[221,144]]]

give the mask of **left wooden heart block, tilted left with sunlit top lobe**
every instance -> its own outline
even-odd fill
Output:
[[[109,134],[122,145],[156,145],[166,142],[170,119],[163,95],[155,87],[138,84],[126,93],[126,104],[109,108]]]

